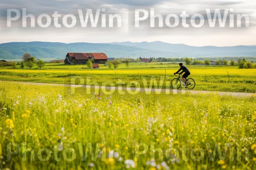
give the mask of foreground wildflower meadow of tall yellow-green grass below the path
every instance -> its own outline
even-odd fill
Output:
[[[0,168],[256,168],[255,96],[83,92],[0,82]]]

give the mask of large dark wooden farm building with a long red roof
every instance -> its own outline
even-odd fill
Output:
[[[93,63],[105,63],[108,57],[105,53],[67,53],[65,64],[87,64],[88,60],[93,60]]]

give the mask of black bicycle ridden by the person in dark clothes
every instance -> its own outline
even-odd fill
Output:
[[[177,76],[177,74],[174,74],[175,76]],[[171,82],[172,88],[174,89],[178,89],[181,86],[181,82],[183,83],[183,80],[181,79],[181,74],[178,74],[179,76],[177,76],[178,78],[174,78]],[[185,78],[185,84],[186,84],[186,88],[192,90],[195,88],[195,80],[192,78]]]

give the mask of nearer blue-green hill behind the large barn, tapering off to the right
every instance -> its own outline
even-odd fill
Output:
[[[2,59],[20,59],[25,53],[30,53],[36,58],[64,59],[68,52],[104,52],[108,57],[166,56],[164,51],[100,43],[9,42],[0,44]],[[172,54],[172,56],[175,56],[175,54]]]

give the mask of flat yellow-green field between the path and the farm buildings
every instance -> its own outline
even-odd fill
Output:
[[[77,66],[77,65],[75,65]],[[72,68],[75,66],[71,66]],[[68,67],[68,65],[65,65]],[[171,68],[140,68],[140,69],[1,69],[2,81],[19,82],[43,82],[57,84],[71,84],[71,79],[76,77],[75,84],[80,84],[84,79],[84,85],[90,85],[86,81],[90,77],[94,85],[122,86],[136,81],[141,88],[145,87],[143,79],[152,88],[170,88],[170,83],[178,67]],[[225,67],[189,67],[191,76],[195,79],[195,90],[227,91],[227,92],[256,92],[256,69],[238,69],[236,66]],[[160,79],[164,79],[160,85]],[[117,83],[122,79],[122,83]],[[153,79],[157,84],[151,83]],[[111,82],[106,83],[106,82]],[[135,86],[135,85],[134,85]]]

